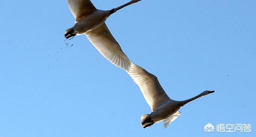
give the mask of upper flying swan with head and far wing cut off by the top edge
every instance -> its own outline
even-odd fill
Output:
[[[104,22],[110,14],[138,1],[140,0],[132,0],[112,10],[98,10],[90,0],[67,0],[76,23],[72,28],[66,30],[65,38],[85,34],[97,50],[112,64],[129,70],[130,60],[122,52]]]

